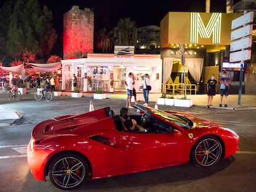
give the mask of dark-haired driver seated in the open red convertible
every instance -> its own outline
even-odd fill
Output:
[[[120,116],[122,117],[122,120],[124,121],[124,125],[126,126],[127,130],[147,132],[145,128],[137,124],[135,119],[130,119],[128,111],[129,109],[127,109],[126,107],[122,107],[120,109]]]

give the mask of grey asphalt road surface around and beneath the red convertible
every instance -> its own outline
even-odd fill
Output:
[[[61,191],[50,182],[33,178],[27,164],[26,148],[36,123],[65,114],[89,111],[92,98],[55,97],[53,101],[35,101],[33,95],[22,101],[1,99],[1,107],[15,109],[23,115],[12,125],[0,127],[0,191]],[[141,102],[143,103],[143,102]],[[111,107],[116,114],[126,105],[123,99],[93,100],[95,109]],[[154,107],[155,103],[150,103]],[[148,172],[103,178],[85,183],[74,191],[255,191],[256,189],[256,111],[205,109],[205,107],[166,107],[163,110],[188,112],[231,128],[241,137],[239,152],[220,161],[215,167],[202,169],[191,164],[177,165]],[[132,109],[130,109],[132,112]],[[2,123],[3,121],[0,121]],[[4,121],[7,122],[7,121]]]

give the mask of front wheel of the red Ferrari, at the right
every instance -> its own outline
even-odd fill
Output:
[[[215,136],[205,136],[195,143],[191,151],[192,162],[198,167],[210,167],[221,159],[222,146]]]

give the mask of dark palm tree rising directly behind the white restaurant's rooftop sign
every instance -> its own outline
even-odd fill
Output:
[[[137,40],[137,27],[130,18],[119,19],[114,28],[114,45],[135,45]]]

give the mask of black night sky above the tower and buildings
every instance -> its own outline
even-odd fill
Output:
[[[54,26],[62,28],[62,15],[72,6],[93,9],[95,15],[95,31],[106,27],[111,30],[120,18],[130,17],[137,27],[145,25],[160,26],[160,21],[169,11],[205,12],[205,0],[39,0],[45,4],[54,15]],[[211,12],[226,12],[226,1],[214,0],[211,2]]]

